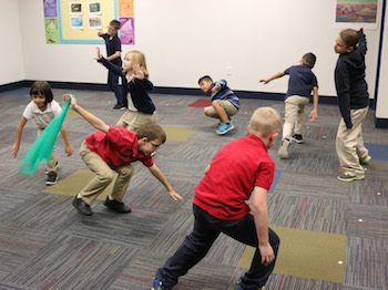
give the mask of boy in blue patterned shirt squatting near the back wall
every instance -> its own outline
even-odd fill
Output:
[[[227,86],[225,80],[213,83],[208,75],[198,80],[201,90],[212,97],[212,105],[204,108],[206,116],[219,118],[219,127],[215,131],[218,135],[224,135],[234,128],[231,116],[237,114],[239,108],[238,97]]]

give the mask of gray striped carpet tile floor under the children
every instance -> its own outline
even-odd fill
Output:
[[[112,126],[123,113],[111,110],[114,97],[109,92],[53,91],[61,104],[63,93],[74,93],[84,108]],[[205,97],[151,94],[161,125],[197,128],[185,141],[167,139],[154,158],[184,200],[175,203],[167,197],[164,187],[137,163],[136,178],[124,198],[133,213],[118,215],[95,200],[94,215],[85,217],[71,205],[76,193],[43,191],[43,164],[31,177],[18,172],[37,138],[33,121],[28,122],[19,156],[11,157],[16,127],[30,101],[28,93],[27,87],[0,93],[0,289],[150,289],[155,270],[193,227],[194,188],[214,154],[231,139],[247,135],[256,107],[269,105],[284,115],[283,102],[243,99],[233,118],[235,130],[217,136],[215,121],[204,116],[203,108],[188,106]],[[268,193],[268,208],[273,226],[346,235],[344,281],[274,273],[266,290],[388,289],[388,131],[375,128],[370,110],[364,124],[365,143],[372,156],[366,178],[341,183],[336,179],[335,151],[339,118],[336,105],[320,104],[318,118],[306,122],[305,143],[292,145],[288,160],[278,158],[280,138],[276,141],[269,155],[278,178]],[[64,125],[75,153],[67,157],[59,137],[61,179],[88,169],[78,148],[94,132],[80,117],[68,117]],[[235,289],[245,271],[237,267],[244,249],[221,236],[175,289]]]

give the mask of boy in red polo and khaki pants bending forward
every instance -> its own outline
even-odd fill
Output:
[[[89,135],[80,148],[82,160],[95,173],[95,177],[73,199],[73,206],[80,214],[93,215],[90,204],[112,183],[114,176],[112,169],[119,176],[104,205],[116,213],[131,213],[131,208],[123,204],[123,197],[133,175],[131,163],[135,160],[142,162],[150,169],[174,200],[182,200],[151,156],[166,141],[166,134],[160,125],[150,122],[142,125],[136,133],[123,127],[110,127],[79,106],[75,97],[63,95],[63,99],[67,97],[71,97],[70,107],[99,130]]]

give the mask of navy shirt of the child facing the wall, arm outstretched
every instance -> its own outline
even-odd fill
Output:
[[[310,97],[313,87],[318,86],[317,77],[307,64],[293,65],[284,73],[289,74],[286,99],[290,95]]]

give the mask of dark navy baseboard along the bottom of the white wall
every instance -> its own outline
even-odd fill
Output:
[[[0,85],[0,93],[21,87],[30,87],[34,81],[24,80],[14,83]],[[69,89],[69,90],[89,90],[89,91],[110,91],[106,84],[96,83],[74,83],[74,82],[51,82],[52,89]],[[237,91],[233,90],[235,94],[241,99],[258,99],[258,100],[273,100],[283,101],[285,94],[282,93],[268,93],[268,92],[252,92],[252,91]],[[169,86],[154,86],[153,94],[173,94],[173,95],[197,95],[203,96],[204,93],[200,89],[191,87],[169,87]],[[374,107],[375,100],[370,100],[370,107]],[[336,96],[319,95],[319,104],[337,104]]]

